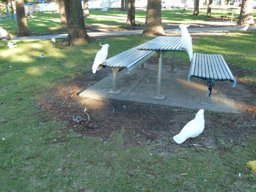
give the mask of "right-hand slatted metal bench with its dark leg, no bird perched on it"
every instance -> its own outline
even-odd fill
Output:
[[[189,82],[191,77],[208,79],[211,83],[229,80],[233,87],[236,86],[236,79],[221,54],[194,53],[188,74]],[[206,103],[203,104],[213,105],[210,100],[211,91],[212,88],[208,87]]]

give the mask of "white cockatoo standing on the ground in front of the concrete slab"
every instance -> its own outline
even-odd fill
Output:
[[[173,140],[180,144],[188,138],[195,138],[204,131],[204,109],[200,109],[193,120],[188,122],[179,134],[173,136]]]

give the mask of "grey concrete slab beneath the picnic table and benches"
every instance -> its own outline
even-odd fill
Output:
[[[119,94],[109,92],[112,88],[112,74],[98,83],[90,86],[79,94],[79,97],[92,99],[118,99],[145,104],[156,104],[188,109],[207,109],[227,113],[239,113],[241,104],[227,97],[232,86],[229,81],[218,81],[214,84],[211,101],[215,106],[200,104],[205,102],[207,93],[206,80],[193,78],[188,82],[189,67],[175,68],[163,65],[162,89],[165,98],[163,100],[151,99],[156,92],[157,65],[145,63],[145,68],[135,68],[126,74],[125,70],[118,72]],[[104,70],[104,69],[103,69]],[[221,86],[218,86],[220,85]]]

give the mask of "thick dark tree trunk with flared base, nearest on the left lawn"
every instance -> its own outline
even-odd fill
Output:
[[[63,45],[84,44],[89,39],[84,25],[81,0],[64,0],[68,36]]]

